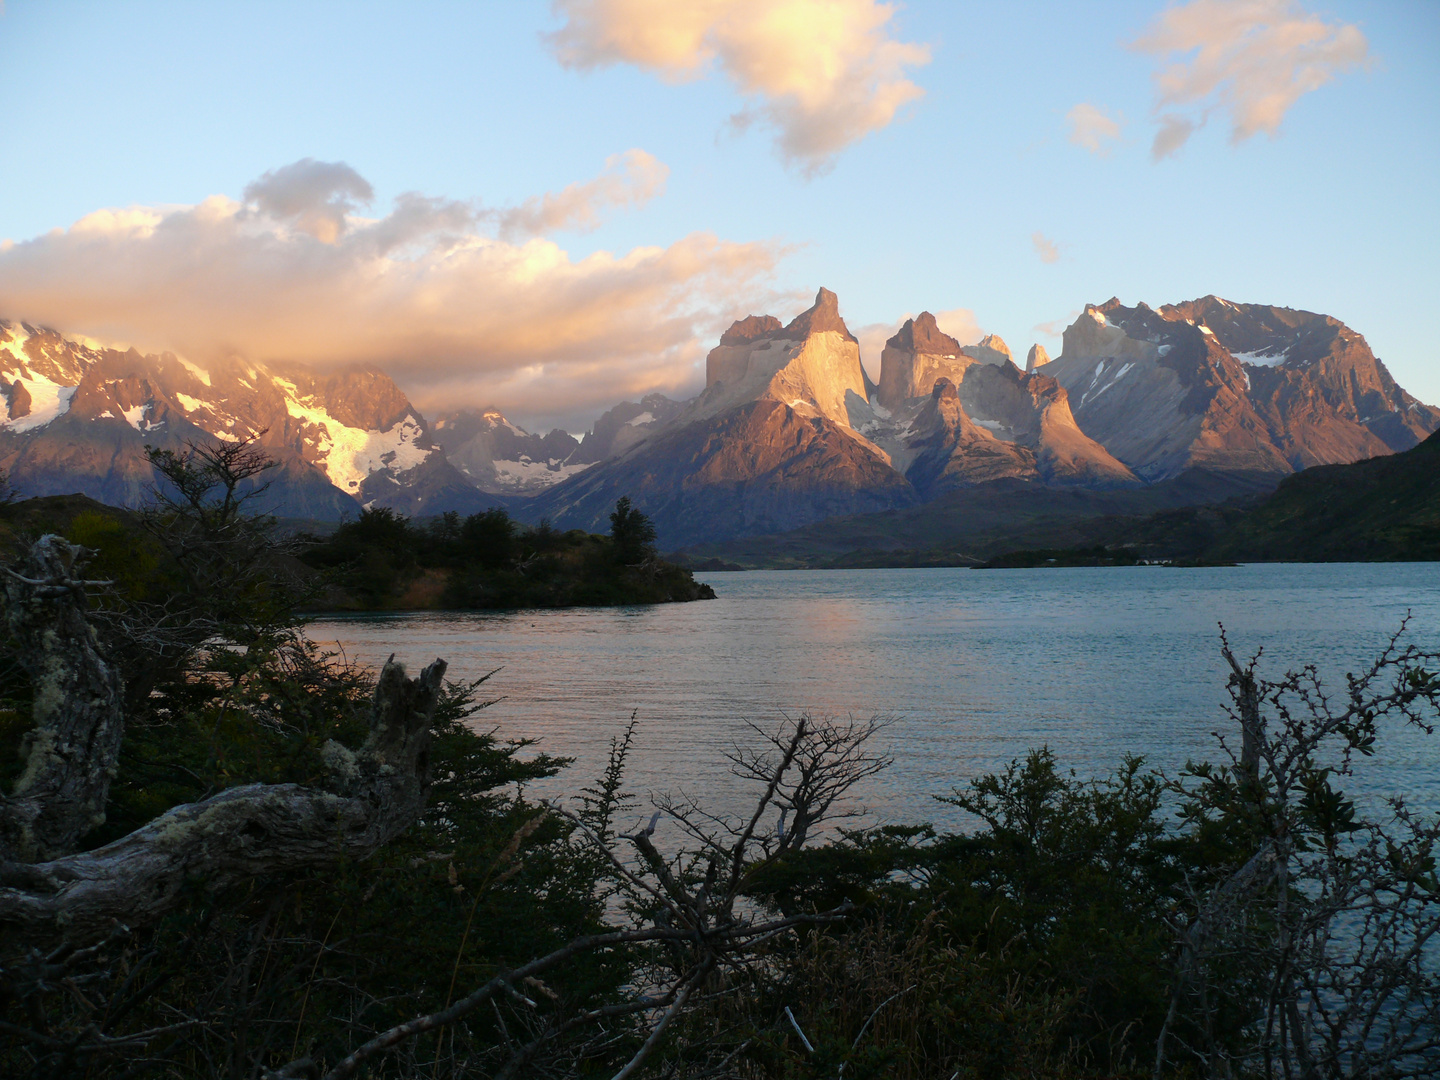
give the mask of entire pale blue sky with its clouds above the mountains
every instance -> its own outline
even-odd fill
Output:
[[[0,7],[0,318],[585,431],[819,287],[1323,311],[1440,403],[1440,3]]]

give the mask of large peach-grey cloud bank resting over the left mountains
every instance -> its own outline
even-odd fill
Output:
[[[575,428],[626,396],[698,389],[713,338],[766,310],[786,253],[697,232],[572,258],[420,194],[379,219],[337,217],[369,184],[314,164],[266,173],[243,203],[105,209],[6,242],[3,314],[202,363],[366,363],[422,409],[495,400]]]

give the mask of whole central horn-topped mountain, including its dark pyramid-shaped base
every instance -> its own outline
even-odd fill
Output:
[[[789,324],[734,323],[710,351],[694,402],[523,513],[605,528],[628,495],[662,546],[684,546],[909,505],[914,488],[851,425],[871,389],[840,302],[822,288]]]

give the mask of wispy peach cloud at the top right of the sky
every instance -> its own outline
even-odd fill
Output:
[[[1233,144],[1261,131],[1273,138],[1296,101],[1364,65],[1369,45],[1358,26],[1326,22],[1297,0],[1191,0],[1130,48],[1165,58],[1153,75],[1159,161],[1217,111],[1230,118]]]

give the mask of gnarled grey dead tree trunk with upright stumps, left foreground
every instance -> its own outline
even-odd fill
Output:
[[[104,821],[124,737],[120,680],[85,621],[85,582],[73,576],[81,554],[48,536],[6,573],[6,615],[35,681],[36,726],[24,776],[0,801],[0,927],[94,939],[117,922],[157,919],[187,884],[223,888],[258,874],[364,858],[415,822],[429,788],[429,727],[445,662],[412,680],[392,658],[376,685],[364,746],[324,747],[325,789],[230,788],[75,854]]]

